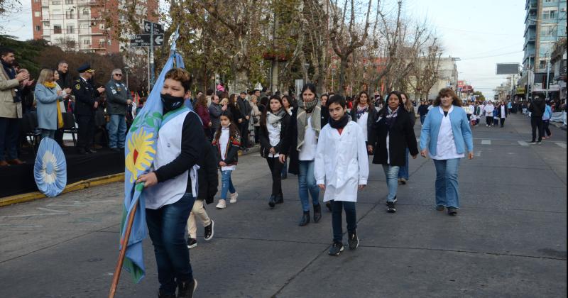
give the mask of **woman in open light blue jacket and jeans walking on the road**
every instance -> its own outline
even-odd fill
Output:
[[[459,161],[466,150],[468,158],[474,158],[474,142],[466,112],[452,89],[440,90],[434,106],[422,126],[420,155],[429,154],[436,166],[436,210],[447,208],[449,215],[456,216]]]

